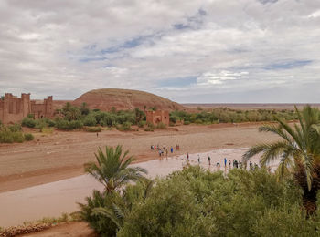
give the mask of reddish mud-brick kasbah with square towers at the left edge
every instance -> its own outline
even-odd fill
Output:
[[[52,118],[54,114],[52,96],[43,101],[30,100],[29,94],[21,94],[21,98],[5,93],[0,99],[0,120],[4,124],[16,123],[33,115],[34,118]]]

